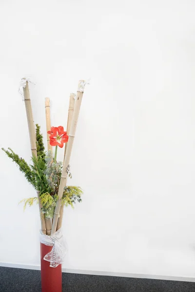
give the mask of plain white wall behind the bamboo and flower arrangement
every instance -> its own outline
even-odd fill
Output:
[[[63,221],[63,265],[195,276],[195,2],[0,2],[0,146],[30,162],[20,78],[46,142],[44,98],[64,125],[69,93],[86,88],[70,184],[83,202]],[[62,157],[62,152],[60,152]],[[35,195],[0,152],[0,262],[39,265]]]

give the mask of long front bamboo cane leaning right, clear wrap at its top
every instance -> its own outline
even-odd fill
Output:
[[[67,179],[67,175],[68,175],[67,174],[67,166],[70,162],[74,137],[75,137],[75,133],[76,133],[76,129],[77,129],[78,115],[79,115],[80,105],[81,105],[82,96],[83,96],[83,91],[82,92],[79,91],[82,88],[81,82],[84,82],[84,81],[83,80],[78,81],[78,91],[77,91],[77,95],[76,95],[76,99],[75,99],[75,108],[73,111],[73,118],[72,118],[70,133],[69,133],[69,139],[68,139],[68,143],[67,143],[66,156],[64,159],[62,172],[61,172],[61,179],[60,179],[60,183],[59,183],[59,192],[58,192],[59,199],[56,203],[51,234],[54,234],[56,232],[56,229],[57,229],[59,210],[60,210],[60,205],[61,205],[61,198],[63,195],[63,191],[64,191],[64,187],[65,187],[65,183],[66,183],[66,179]]]

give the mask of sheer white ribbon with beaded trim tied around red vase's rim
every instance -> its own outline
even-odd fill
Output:
[[[68,246],[61,232],[61,228],[52,236],[45,235],[40,230],[40,242],[47,246],[53,246],[51,252],[43,258],[50,262],[50,267],[56,268],[63,263],[68,251]]]

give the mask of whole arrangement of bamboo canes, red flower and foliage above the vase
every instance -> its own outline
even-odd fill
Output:
[[[43,144],[43,136],[40,133],[40,126],[34,126],[30,93],[28,88],[29,79],[22,78],[20,85],[23,89],[23,97],[26,108],[26,116],[29,129],[29,137],[32,152],[32,164],[28,164],[23,158],[16,154],[11,148],[2,150],[18,166],[26,180],[35,188],[37,197],[23,199],[24,209],[27,205],[32,206],[36,201],[39,203],[41,221],[41,232],[43,235],[53,235],[60,229],[63,217],[63,207],[81,202],[82,189],[79,186],[68,186],[67,177],[72,178],[70,173],[70,156],[74,142],[78,122],[82,95],[85,81],[78,82],[78,91],[71,93],[69,101],[67,131],[62,126],[51,127],[50,122],[50,101],[45,99],[45,114],[47,126],[47,151]],[[64,150],[64,161],[57,160],[58,147]],[[52,147],[55,146],[53,155]]]

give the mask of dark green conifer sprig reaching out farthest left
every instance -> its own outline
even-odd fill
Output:
[[[16,154],[11,148],[8,148],[10,151],[5,150],[4,148],[1,149],[7,154],[9,158],[18,164],[20,171],[24,174],[27,181],[36,187],[35,176],[27,162],[23,158],[19,157],[19,155]]]

